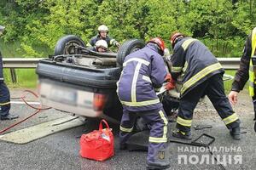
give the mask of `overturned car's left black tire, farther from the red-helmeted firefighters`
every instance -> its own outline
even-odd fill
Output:
[[[61,37],[61,39],[55,45],[55,55],[79,54],[79,51],[75,48],[75,45],[85,47],[84,41],[80,37],[74,35]]]

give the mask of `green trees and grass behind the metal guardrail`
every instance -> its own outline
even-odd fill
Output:
[[[74,34],[86,43],[105,24],[119,42],[162,37],[170,48],[170,34],[181,31],[217,57],[240,57],[255,20],[255,0],[1,0],[0,48],[4,57],[47,57],[60,37]],[[4,74],[9,86],[36,85],[34,70],[17,70],[17,84],[9,70]]]

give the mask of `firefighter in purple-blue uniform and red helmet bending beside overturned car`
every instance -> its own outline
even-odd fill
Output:
[[[117,94],[124,109],[119,129],[120,149],[125,149],[137,116],[143,117],[150,127],[147,169],[170,167],[166,143],[168,121],[154,91],[161,88],[167,75],[162,59],[164,49],[163,40],[154,37],[144,48],[127,55],[117,82]]]

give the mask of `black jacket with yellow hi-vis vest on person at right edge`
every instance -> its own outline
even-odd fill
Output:
[[[256,44],[256,28],[253,29],[253,32],[247,37],[247,41],[245,43],[243,54],[241,56],[240,68],[236,71],[235,80],[232,83],[232,91],[240,92],[244,87],[245,83],[249,79],[249,93],[253,97],[254,96],[254,79],[255,75],[253,73],[253,63],[251,57],[255,54],[255,44]],[[254,44],[254,50],[253,50]],[[250,67],[252,67],[250,69]]]

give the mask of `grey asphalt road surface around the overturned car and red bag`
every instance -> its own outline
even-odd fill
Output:
[[[244,105],[244,107],[252,107],[252,105]],[[23,118],[30,115],[33,110],[29,109],[26,105],[12,105],[11,112]],[[208,113],[208,111],[204,112]],[[204,112],[199,114],[206,114]],[[210,112],[208,114],[210,118],[209,116],[195,116],[193,125],[212,125],[212,128],[198,131],[193,129],[193,139],[196,139],[201,133],[214,136],[216,140],[211,144],[212,152],[219,158],[219,162],[225,165],[224,168],[227,170],[255,169],[256,133],[253,132],[252,110],[249,110],[245,115],[241,115],[241,127],[245,127],[242,131],[247,133],[242,133],[242,139],[240,141],[231,139],[224,123],[220,121],[216,113]],[[214,116],[211,116],[212,114]],[[44,111],[32,117],[32,119],[14,127],[10,131],[29,127],[41,122],[47,122],[62,116],[66,116],[66,113],[55,110]],[[1,121],[0,130],[14,122],[15,121]],[[174,129],[174,126],[175,123],[169,124],[170,133]],[[86,123],[84,126],[55,133],[28,144],[12,144],[0,140],[0,169],[145,169],[147,153],[143,151],[118,150],[117,135],[114,137],[115,155],[109,160],[99,162],[81,158],[79,156],[78,137],[85,129]],[[174,138],[171,137],[170,139]],[[169,169],[223,169],[218,163],[212,161],[212,156],[203,148],[197,149],[197,147],[186,144],[170,143],[168,150],[170,153],[169,160],[172,165]],[[186,159],[187,162],[185,162],[184,159]]]

